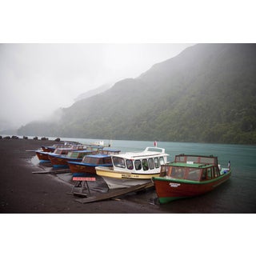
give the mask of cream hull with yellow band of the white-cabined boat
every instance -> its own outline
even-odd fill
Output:
[[[130,186],[142,185],[150,182],[151,178],[158,177],[158,174],[132,174],[122,173],[106,168],[96,168],[96,174],[102,176],[109,189],[126,188]]]

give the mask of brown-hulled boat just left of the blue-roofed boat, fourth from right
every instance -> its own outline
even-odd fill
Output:
[[[94,154],[91,150],[71,150],[67,154],[48,154],[48,158],[54,168],[68,166],[69,161],[81,162],[87,154]]]

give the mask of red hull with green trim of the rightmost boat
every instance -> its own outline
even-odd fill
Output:
[[[231,170],[218,178],[209,181],[196,182],[166,177],[152,178],[159,202],[166,203],[180,198],[194,197],[206,194],[230,178]]]

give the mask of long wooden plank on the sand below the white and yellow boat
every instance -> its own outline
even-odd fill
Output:
[[[120,195],[128,194],[130,192],[144,190],[146,188],[150,188],[153,186],[154,186],[153,182],[148,182],[148,183],[145,183],[142,185],[131,186],[131,187],[128,187],[125,189],[110,190],[110,192],[107,192],[105,194],[98,194],[98,195],[95,195],[95,196],[89,197],[89,198],[76,199],[75,201],[80,202],[80,203],[98,202],[98,201],[103,201],[103,200],[110,199],[110,198],[116,198]]]

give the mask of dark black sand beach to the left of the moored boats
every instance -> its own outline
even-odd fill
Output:
[[[6,214],[156,214],[157,205],[122,200],[81,204],[70,192],[72,186],[53,174],[32,174],[42,170],[31,163],[34,152],[53,141],[0,139],[1,213]]]

